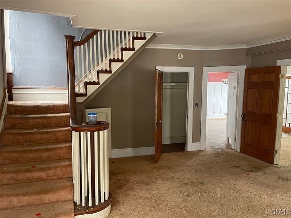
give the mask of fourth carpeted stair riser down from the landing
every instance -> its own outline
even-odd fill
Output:
[[[28,151],[1,152],[0,164],[26,163],[42,160],[60,160],[72,158],[72,146],[35,149]]]

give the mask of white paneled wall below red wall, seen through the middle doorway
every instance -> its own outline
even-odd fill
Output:
[[[207,84],[207,118],[226,117],[227,86],[223,82]]]

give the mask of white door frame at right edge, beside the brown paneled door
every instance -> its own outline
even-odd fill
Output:
[[[278,102],[278,113],[280,117],[277,119],[277,129],[276,129],[276,140],[275,140],[275,150],[277,154],[274,155],[274,164],[279,164],[280,152],[281,152],[281,140],[282,140],[282,126],[283,126],[283,113],[284,113],[284,96],[285,96],[285,82],[287,66],[291,66],[291,59],[277,60],[277,66],[281,66],[281,74],[283,74],[284,79],[280,79],[279,88],[279,102]]]

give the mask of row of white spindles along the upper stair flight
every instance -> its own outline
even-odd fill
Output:
[[[142,32],[101,30],[76,46],[76,92],[85,93],[85,82],[98,82],[98,70],[111,70],[109,60],[121,59],[121,48],[132,48],[133,37]],[[81,42],[81,41],[80,41]]]

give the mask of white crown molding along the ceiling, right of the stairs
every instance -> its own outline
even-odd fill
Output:
[[[173,44],[149,44],[146,48],[160,48],[160,49],[180,49],[180,50],[226,50],[239,49],[268,45],[276,42],[291,40],[291,34],[281,35],[274,38],[264,39],[249,44],[224,45],[224,46],[192,46],[192,45],[173,45]]]

